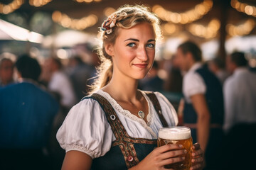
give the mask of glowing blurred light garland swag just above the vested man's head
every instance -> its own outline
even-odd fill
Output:
[[[188,30],[193,34],[201,38],[215,38],[220,29],[220,21],[213,19],[208,23],[208,26],[193,23],[188,26]]]

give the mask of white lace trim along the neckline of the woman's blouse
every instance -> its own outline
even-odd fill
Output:
[[[110,102],[110,104],[114,107],[114,109],[116,109],[119,113],[121,113],[122,115],[134,120],[134,121],[137,121],[138,123],[140,123],[146,130],[148,130],[150,132],[150,134],[157,138],[157,135],[156,133],[149,127],[149,125],[151,125],[151,117],[152,117],[152,114],[151,114],[151,102],[149,101],[149,98],[144,94],[143,91],[142,92],[142,95],[144,96],[144,98],[146,98],[146,101],[148,103],[148,107],[149,107],[149,114],[146,116],[146,120],[147,120],[147,124],[146,122],[141,119],[141,118],[138,118],[136,115],[133,115],[130,111],[128,110],[125,110],[123,109],[118,103],[117,101],[114,100],[114,98],[112,98],[110,96],[110,94],[107,94],[107,92],[105,91],[102,91],[101,89],[99,91],[97,91],[96,93],[97,94],[100,94],[102,95],[103,97],[105,97],[107,99],[107,101]]]

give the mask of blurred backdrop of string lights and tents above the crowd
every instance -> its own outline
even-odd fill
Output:
[[[186,39],[201,45],[205,60],[234,50],[255,55],[255,0],[1,0],[0,53],[71,57],[81,52],[75,45],[96,45],[102,22],[124,4],[144,4],[161,18],[158,60]]]

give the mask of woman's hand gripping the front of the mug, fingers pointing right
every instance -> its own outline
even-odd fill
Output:
[[[142,162],[139,162],[137,166],[133,166],[129,170],[165,169],[164,165],[183,161],[185,159],[183,156],[186,152],[186,149],[183,149],[182,145],[169,144],[157,147]]]

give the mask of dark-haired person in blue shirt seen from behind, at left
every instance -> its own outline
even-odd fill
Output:
[[[0,89],[0,169],[48,169],[44,151],[58,103],[38,85],[36,59],[22,55],[15,66],[18,83]]]

